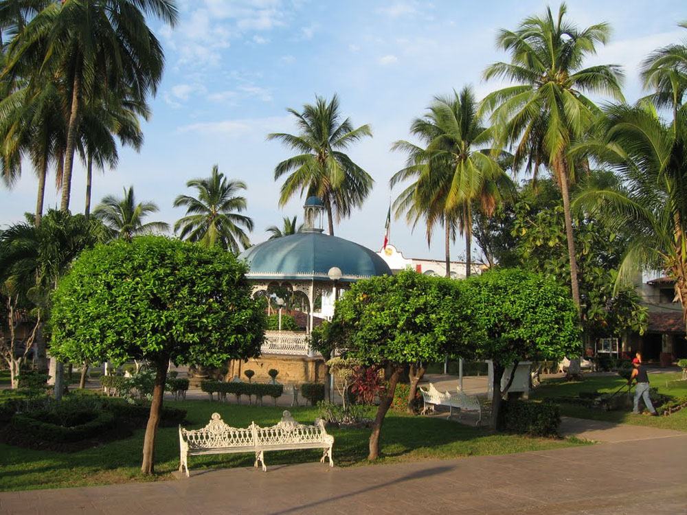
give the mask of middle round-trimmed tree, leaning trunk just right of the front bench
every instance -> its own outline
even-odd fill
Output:
[[[359,281],[337,302],[330,341],[343,356],[383,367],[388,380],[372,426],[368,459],[379,457],[382,423],[403,370],[442,359],[469,334],[460,304],[458,282],[413,271]],[[461,354],[469,356],[467,345]]]

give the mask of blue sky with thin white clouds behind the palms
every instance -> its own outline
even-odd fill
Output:
[[[481,80],[484,68],[506,56],[495,49],[499,28],[515,28],[523,17],[541,14],[540,1],[359,1],[179,0],[174,29],[155,23],[164,44],[166,71],[153,117],[144,124],[141,152],[123,149],[116,170],[95,172],[93,199],[122,193],[133,185],[141,201],[155,201],[158,220],[173,224],[183,210],[172,208],[178,194],[190,194],[189,179],[209,176],[213,164],[248,185],[247,214],[256,230],[252,242],[266,239],[265,227],[282,216],[302,218],[302,200],[277,205],[276,163],[289,157],[271,132],[293,132],[287,107],[299,110],[315,94],[339,95],[344,114],[374,133],[350,151],[370,173],[374,190],[337,236],[375,251],[381,247],[390,196],[390,176],[404,156],[390,152],[406,139],[412,119],[423,114],[434,95],[472,84],[481,98],[499,87]],[[552,4],[557,8],[558,4]],[[608,21],[613,37],[589,64],[624,67],[624,93],[636,100],[641,89],[638,63],[653,49],[679,41],[687,19],[681,1],[572,1],[570,19],[578,25]],[[12,190],[0,190],[0,225],[21,220],[35,206],[36,181],[30,166]],[[50,176],[48,206],[58,205]],[[71,210],[82,211],[85,172],[74,171]],[[409,257],[442,258],[440,233],[427,247],[421,227],[414,233],[403,220],[392,222],[391,242]],[[453,245],[454,257],[464,243]]]

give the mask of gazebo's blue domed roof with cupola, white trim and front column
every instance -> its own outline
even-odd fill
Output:
[[[309,197],[304,211],[304,227],[298,233],[257,244],[238,258],[249,264],[247,277],[254,293],[267,291],[271,284],[288,283],[294,292],[306,295],[309,332],[313,328],[315,299],[319,296],[328,297],[334,288],[345,288],[346,284],[374,275],[392,275],[392,271],[370,249],[324,234],[324,205],[319,198]]]

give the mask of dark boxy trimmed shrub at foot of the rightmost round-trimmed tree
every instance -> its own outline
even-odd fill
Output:
[[[558,436],[561,411],[557,404],[509,400],[502,404],[499,418],[504,431],[528,436]]]

